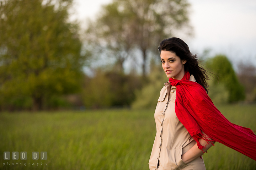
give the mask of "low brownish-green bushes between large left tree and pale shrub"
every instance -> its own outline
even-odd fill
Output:
[[[140,87],[138,76],[98,70],[95,77],[86,77],[83,89],[84,105],[89,108],[129,106],[135,89]]]

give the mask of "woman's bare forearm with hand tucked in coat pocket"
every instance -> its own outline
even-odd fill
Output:
[[[204,135],[206,135],[204,132],[202,132]],[[210,140],[212,140],[210,138]],[[210,147],[212,147],[212,144],[207,144],[207,141],[204,139],[200,139],[199,142],[202,146],[206,146],[203,151],[206,152]],[[214,143],[214,142],[213,142]],[[197,144],[195,144],[190,150],[188,150],[185,154],[181,155],[181,159],[185,163],[190,163],[192,160],[198,158],[200,155],[203,154],[203,151],[201,149],[198,149]]]

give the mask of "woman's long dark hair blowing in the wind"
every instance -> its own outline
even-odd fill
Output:
[[[180,38],[172,37],[168,39],[164,39],[161,41],[158,50],[161,54],[161,50],[171,51],[175,53],[181,60],[186,60],[187,62],[184,64],[185,71],[187,70],[194,76],[197,83],[203,86],[203,88],[208,93],[208,83],[206,80],[209,79],[207,76],[207,70],[198,65],[197,54],[192,55],[188,45],[183,42]]]

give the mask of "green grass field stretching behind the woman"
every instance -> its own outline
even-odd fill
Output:
[[[255,105],[217,108],[232,123],[256,130]],[[28,158],[2,156],[0,169],[148,170],[155,133],[154,110],[1,113],[2,155],[26,151]],[[32,160],[33,151],[46,151],[48,159]],[[220,143],[203,158],[207,170],[256,170],[256,161]]]

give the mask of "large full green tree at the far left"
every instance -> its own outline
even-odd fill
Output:
[[[53,95],[80,89],[85,55],[78,25],[67,22],[71,5],[72,0],[1,1],[2,109],[31,101],[33,110],[41,110]]]

